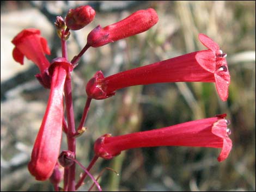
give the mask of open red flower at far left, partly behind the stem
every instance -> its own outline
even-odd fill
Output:
[[[40,69],[40,74],[36,75],[39,82],[46,88],[50,88],[50,77],[48,77],[49,61],[45,54],[51,54],[45,38],[40,35],[38,29],[24,29],[11,41],[15,47],[13,58],[23,65],[24,56],[32,60]]]

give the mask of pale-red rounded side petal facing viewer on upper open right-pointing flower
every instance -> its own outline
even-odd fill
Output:
[[[206,71],[212,73],[216,70],[216,56],[214,52],[210,50],[199,51],[196,54],[196,60],[200,66],[202,66]]]

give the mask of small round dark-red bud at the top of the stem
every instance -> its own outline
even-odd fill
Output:
[[[79,30],[93,21],[95,10],[89,5],[80,6],[76,9],[70,9],[66,15],[66,26],[71,30]]]

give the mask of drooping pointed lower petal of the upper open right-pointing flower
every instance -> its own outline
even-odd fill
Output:
[[[222,101],[227,101],[228,99],[228,87],[230,84],[229,73],[228,72],[225,72],[225,73],[227,74],[224,76],[223,75],[220,76],[217,73],[214,74],[218,95],[220,95]]]

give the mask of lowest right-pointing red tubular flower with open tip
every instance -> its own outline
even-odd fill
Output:
[[[224,115],[180,123],[178,125],[137,132],[117,137],[105,134],[95,141],[95,154],[104,159],[111,159],[121,151],[138,147],[190,146],[222,148],[218,161],[225,160],[232,148],[228,137],[230,129]]]

